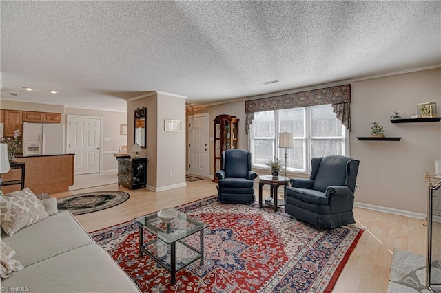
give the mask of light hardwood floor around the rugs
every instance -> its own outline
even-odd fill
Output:
[[[199,180],[187,182],[186,187],[158,193],[147,189],[130,191],[117,184],[110,184],[51,196],[64,197],[89,191],[116,190],[130,193],[130,199],[107,210],[76,216],[85,230],[92,232],[130,221],[139,215],[180,206],[217,193],[216,183],[211,180]],[[387,292],[393,248],[425,255],[424,221],[364,208],[354,208],[353,211],[357,225],[364,227],[365,232],[342,270],[333,292]]]

